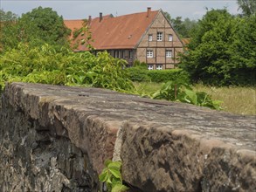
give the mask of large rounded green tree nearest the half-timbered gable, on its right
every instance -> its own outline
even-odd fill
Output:
[[[181,67],[194,81],[208,84],[231,84],[230,60],[237,20],[227,10],[210,10],[198,22]]]

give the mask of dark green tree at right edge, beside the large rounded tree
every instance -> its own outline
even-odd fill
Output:
[[[238,18],[239,24],[230,52],[230,73],[240,85],[256,84],[256,14]]]

